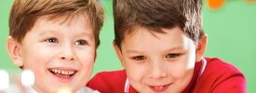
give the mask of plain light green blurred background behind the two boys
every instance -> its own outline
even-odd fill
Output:
[[[236,65],[246,75],[248,92],[256,93],[256,88],[253,88],[256,86],[256,74],[253,72],[256,68],[256,2],[246,1],[227,0],[219,9],[209,9],[208,2],[204,0],[203,29],[209,35],[206,56],[218,57]],[[112,0],[101,0],[101,4],[105,9],[105,21],[93,75],[122,69],[112,46]],[[9,60],[6,49],[11,5],[12,0],[0,0],[0,70],[19,73],[20,69]]]

